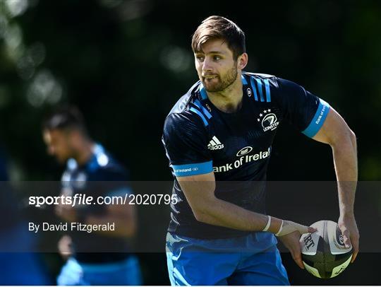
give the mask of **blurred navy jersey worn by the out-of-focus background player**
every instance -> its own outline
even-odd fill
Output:
[[[99,144],[95,145],[92,158],[85,165],[78,163],[71,158],[68,160],[66,170],[61,177],[62,193],[67,196],[74,194],[86,194],[93,197],[93,202],[97,197],[121,196],[124,193],[131,193],[127,185],[128,172],[107,151]],[[90,204],[77,205],[78,215],[83,218],[88,215],[102,215],[107,205]],[[75,259],[80,263],[106,263],[116,262],[126,259],[127,253],[131,251],[126,238],[107,236],[93,231],[73,231],[69,233],[73,240]],[[117,252],[99,252],[95,250],[112,250]],[[121,253],[119,253],[121,252]]]

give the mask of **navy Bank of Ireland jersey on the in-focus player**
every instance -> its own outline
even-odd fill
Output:
[[[242,74],[241,109],[222,112],[198,81],[180,98],[164,122],[162,142],[174,175],[169,232],[193,238],[231,238],[248,234],[195,219],[176,177],[214,172],[216,197],[265,213],[266,170],[279,124],[286,119],[313,137],[329,105],[291,81],[265,74]]]

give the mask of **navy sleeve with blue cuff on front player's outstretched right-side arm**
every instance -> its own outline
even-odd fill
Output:
[[[278,78],[277,102],[283,117],[298,131],[313,137],[329,112],[329,104],[298,84]]]

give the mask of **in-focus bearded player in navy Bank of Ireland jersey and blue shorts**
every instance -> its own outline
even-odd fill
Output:
[[[358,252],[356,136],[327,102],[296,83],[243,72],[245,45],[232,21],[205,19],[192,40],[200,81],[165,120],[163,143],[179,198],[167,235],[172,285],[287,285],[274,235],[303,268],[299,238],[308,228],[265,215],[262,182],[283,120],[332,147],[339,227],[353,260]]]

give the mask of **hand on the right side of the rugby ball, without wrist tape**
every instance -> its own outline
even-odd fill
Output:
[[[358,254],[358,240],[360,238],[356,220],[353,215],[340,216],[338,224],[344,238],[345,247],[349,247],[350,245],[353,247],[353,256],[351,260],[351,263],[353,263]]]

